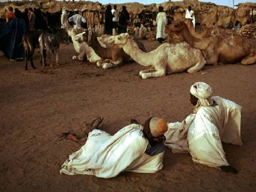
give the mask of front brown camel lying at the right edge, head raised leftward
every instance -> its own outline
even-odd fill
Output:
[[[250,65],[256,62],[256,45],[242,36],[216,35],[204,39],[196,38],[184,22],[173,23],[169,29],[180,32],[179,35],[185,42],[204,51],[209,65],[217,65],[218,62],[224,64],[241,62],[242,65]]]

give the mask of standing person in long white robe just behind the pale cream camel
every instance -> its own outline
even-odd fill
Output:
[[[164,39],[166,37],[165,26],[168,20],[166,17],[166,13],[164,13],[163,6],[159,6],[158,10],[159,10],[159,13],[157,13],[157,16],[156,16],[156,22],[157,22],[156,39],[161,44],[162,42],[164,42]]]

